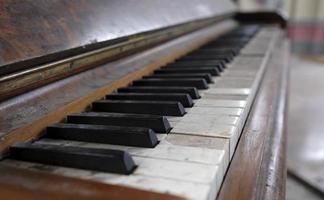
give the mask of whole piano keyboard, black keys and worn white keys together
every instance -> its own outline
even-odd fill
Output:
[[[11,146],[2,162],[215,199],[278,34],[241,26]]]

